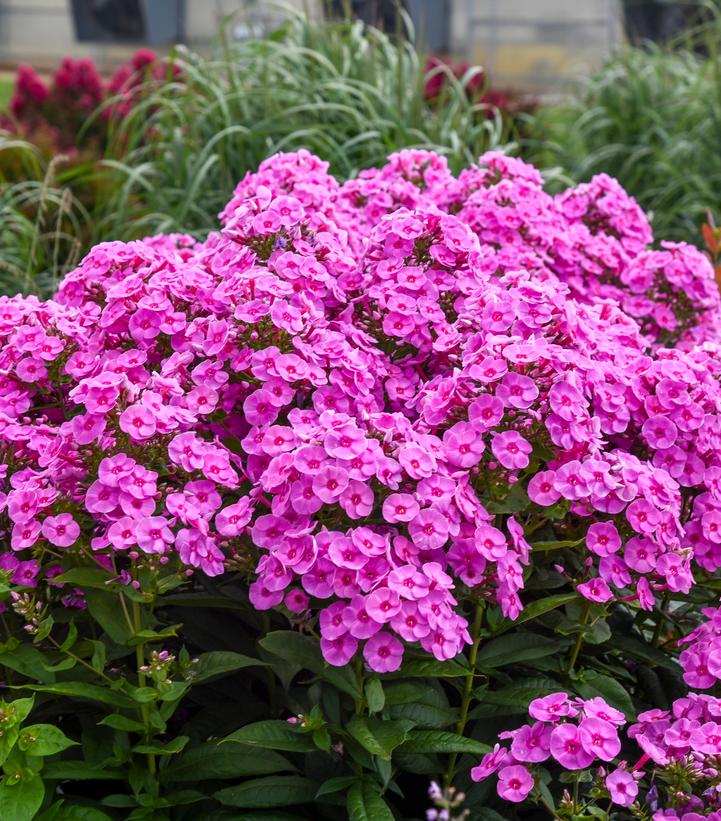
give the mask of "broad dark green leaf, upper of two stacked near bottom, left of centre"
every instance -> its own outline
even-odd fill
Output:
[[[272,750],[207,742],[173,759],[161,770],[160,780],[169,784],[190,783],[211,778],[269,775],[294,769],[290,761]]]

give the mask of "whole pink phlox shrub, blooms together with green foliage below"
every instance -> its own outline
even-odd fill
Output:
[[[300,151],[2,298],[7,817],[714,811],[719,294],[651,240]]]

